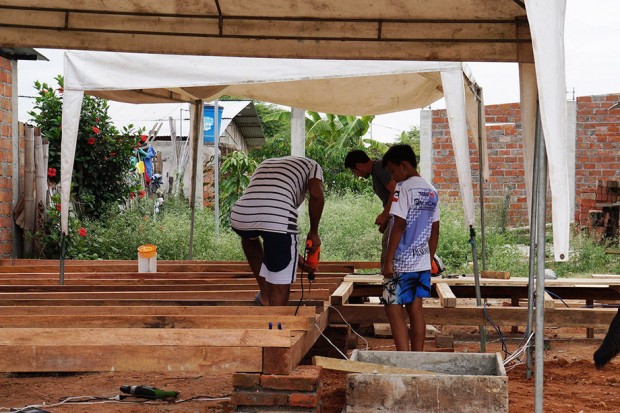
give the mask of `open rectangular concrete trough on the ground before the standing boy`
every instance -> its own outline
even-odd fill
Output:
[[[345,413],[508,412],[508,378],[497,353],[355,350],[351,358],[437,375],[349,374]]]

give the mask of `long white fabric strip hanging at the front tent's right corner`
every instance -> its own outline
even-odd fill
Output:
[[[551,183],[553,254],[567,261],[570,238],[570,196],[564,71],[566,0],[526,0],[533,35],[536,82]]]

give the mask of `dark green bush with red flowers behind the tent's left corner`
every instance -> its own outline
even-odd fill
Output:
[[[62,138],[63,78],[55,79],[56,90],[35,82],[36,104],[28,113],[49,141],[47,175],[52,184],[60,180]],[[139,189],[128,176],[142,131],[130,125],[119,132],[108,116],[108,107],[105,99],[85,96],[82,101],[71,188],[79,218],[97,218],[110,204],[124,203],[130,192]]]

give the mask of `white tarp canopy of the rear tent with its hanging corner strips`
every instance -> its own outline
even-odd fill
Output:
[[[463,63],[292,60],[66,52],[61,166],[62,230],[84,93],[130,103],[195,102],[221,95],[343,115],[375,115],[450,100],[451,136],[468,225],[474,201],[467,144],[466,96],[475,80]],[[445,83],[444,75],[450,82]],[[444,82],[442,82],[444,80]],[[477,131],[473,132],[477,136]],[[486,145],[486,142],[485,142]],[[463,151],[462,148],[467,149]]]

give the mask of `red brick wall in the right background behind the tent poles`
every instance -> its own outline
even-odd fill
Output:
[[[577,98],[575,220],[589,226],[599,181],[620,180],[620,94]],[[490,179],[485,184],[485,208],[505,208],[510,226],[528,222],[523,170],[523,145],[518,103],[485,107]],[[460,202],[458,177],[445,110],[434,110],[434,185],[444,200]],[[478,152],[470,143],[474,196],[478,192]],[[548,199],[550,197],[548,196]],[[476,206],[477,208],[478,206]]]

